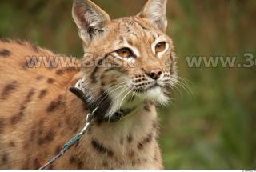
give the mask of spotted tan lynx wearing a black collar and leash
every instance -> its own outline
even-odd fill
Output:
[[[75,85],[100,107],[97,121],[48,169],[163,169],[156,106],[178,78],[166,2],[110,20],[94,2],[74,0],[85,56],[71,67],[30,67],[27,57],[58,55],[0,42],[0,169],[38,169],[83,128],[90,105],[69,91]]]

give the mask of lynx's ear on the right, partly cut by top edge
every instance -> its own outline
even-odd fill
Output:
[[[167,0],[148,0],[138,16],[148,18],[159,30],[166,32],[166,4]]]

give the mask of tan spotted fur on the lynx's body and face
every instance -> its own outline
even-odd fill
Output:
[[[105,19],[109,20],[108,17]],[[169,74],[166,80],[169,78],[168,83],[174,84],[176,56],[171,39],[162,33],[164,26],[157,28],[149,19],[140,16],[107,21],[104,26],[106,33],[96,34],[91,40],[80,33],[86,62],[95,64],[97,57],[107,57],[110,61],[106,60],[106,64],[118,64],[118,70],[107,71],[111,67],[102,65],[82,67],[81,71],[77,66],[71,70],[61,66],[28,68],[26,57],[58,55],[27,42],[0,42],[0,169],[38,169],[40,163],[57,154],[82,129],[88,110],[69,91],[78,79],[85,80],[84,91],[93,98],[101,98],[101,90],[107,91],[124,81],[135,83],[139,78],[141,83],[150,81],[145,73],[154,68]],[[82,30],[79,26],[78,29]],[[151,49],[155,37],[159,36],[170,46],[161,58],[156,57]],[[124,67],[130,66],[131,62],[114,58],[114,52],[122,48],[124,42],[138,49],[140,57],[134,59],[134,67]],[[86,52],[94,56],[88,58]],[[130,85],[126,87],[130,88]],[[111,93],[112,111],[118,110],[117,107],[114,109],[119,105],[117,102],[121,102],[120,107],[136,105],[137,109],[119,122],[96,122],[76,146],[49,168],[162,169],[155,104],[162,103],[166,97],[164,89],[158,96],[154,91],[157,90],[134,93],[134,102],[129,101],[129,93],[128,98],[122,94],[121,99],[117,96],[120,91]],[[111,116],[111,110],[106,115]]]

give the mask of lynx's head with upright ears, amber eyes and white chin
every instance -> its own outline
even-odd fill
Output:
[[[102,102],[106,93],[112,111],[136,98],[168,102],[177,72],[166,35],[166,2],[148,0],[139,14],[111,20],[94,2],[74,0],[73,18],[85,51],[83,88],[92,101]]]

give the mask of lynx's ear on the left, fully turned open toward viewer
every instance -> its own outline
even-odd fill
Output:
[[[86,46],[95,36],[103,34],[106,22],[110,22],[110,16],[90,0],[74,0],[72,15]]]

